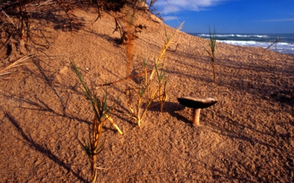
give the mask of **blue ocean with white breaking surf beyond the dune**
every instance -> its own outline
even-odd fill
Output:
[[[189,33],[193,36],[209,39],[209,33]],[[254,46],[267,48],[275,40],[276,46],[269,49],[278,53],[285,53],[294,56],[294,33],[217,33],[217,42],[224,42],[232,45]]]

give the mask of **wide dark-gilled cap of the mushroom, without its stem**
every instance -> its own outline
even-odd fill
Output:
[[[193,109],[204,109],[211,107],[217,102],[214,98],[191,98],[191,97],[181,97],[178,98],[178,102],[185,107]]]

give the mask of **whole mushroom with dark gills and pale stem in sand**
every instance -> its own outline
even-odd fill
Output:
[[[211,107],[213,104],[217,102],[214,98],[191,98],[191,97],[183,97],[178,98],[178,102],[185,107],[189,107],[193,109],[193,118],[192,122],[194,125],[199,126],[199,117],[200,110]]]

